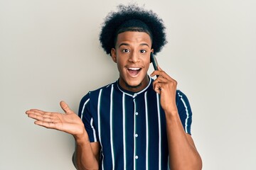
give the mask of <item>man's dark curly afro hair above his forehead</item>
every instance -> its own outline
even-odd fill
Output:
[[[161,18],[153,11],[146,11],[136,4],[121,4],[117,8],[118,11],[110,12],[102,23],[100,43],[107,55],[110,55],[111,49],[115,46],[117,35],[129,30],[148,33],[154,54],[160,52],[167,43],[165,26]]]

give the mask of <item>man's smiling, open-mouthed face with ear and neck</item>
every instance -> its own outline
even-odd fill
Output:
[[[117,43],[112,48],[112,60],[119,70],[119,85],[128,91],[141,91],[149,78],[151,39],[147,33],[127,31],[117,35]]]

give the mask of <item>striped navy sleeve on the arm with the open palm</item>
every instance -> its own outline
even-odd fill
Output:
[[[97,142],[98,135],[96,134],[95,130],[95,121],[92,118],[92,113],[90,111],[90,93],[81,99],[78,116],[81,118],[82,123],[85,125],[85,130],[89,136],[90,142]]]

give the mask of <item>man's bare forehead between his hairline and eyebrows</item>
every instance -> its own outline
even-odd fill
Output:
[[[146,43],[147,45],[149,45],[149,47],[151,47],[151,38],[149,34],[144,32],[126,31],[117,35],[116,45],[120,45],[122,43],[127,43],[128,45]]]

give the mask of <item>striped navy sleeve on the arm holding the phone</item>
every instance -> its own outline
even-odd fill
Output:
[[[186,133],[191,135],[192,111],[188,98],[180,90],[176,91],[176,106],[178,115]]]

